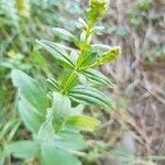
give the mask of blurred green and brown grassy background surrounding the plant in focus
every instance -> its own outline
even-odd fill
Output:
[[[31,139],[16,112],[11,69],[41,80],[58,76],[62,68],[35,40],[61,41],[52,32],[54,26],[76,35],[76,21],[87,9],[88,0],[0,0],[0,165],[4,160],[7,165],[22,164],[4,157],[1,148]],[[116,111],[86,109],[102,124],[85,133],[90,145],[81,161],[84,165],[165,165],[165,0],[111,0],[99,24],[105,34],[92,42],[122,47],[116,62],[98,68],[114,81],[106,92]]]

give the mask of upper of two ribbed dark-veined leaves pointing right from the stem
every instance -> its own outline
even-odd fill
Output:
[[[110,79],[98,70],[88,69],[85,72],[81,72],[81,74],[85,75],[86,78],[92,84],[105,85],[110,88],[112,87],[112,82],[110,81]]]

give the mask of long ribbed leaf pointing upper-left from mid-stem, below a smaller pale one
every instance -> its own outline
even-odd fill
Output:
[[[36,42],[48,51],[59,65],[67,68],[74,68],[74,64],[66,51],[61,48],[57,44],[45,40],[36,40]]]

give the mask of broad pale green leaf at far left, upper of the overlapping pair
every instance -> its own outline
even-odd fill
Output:
[[[45,114],[48,107],[46,89],[35,79],[21,70],[12,70],[12,81],[19,88],[19,92],[24,97],[38,113]]]

